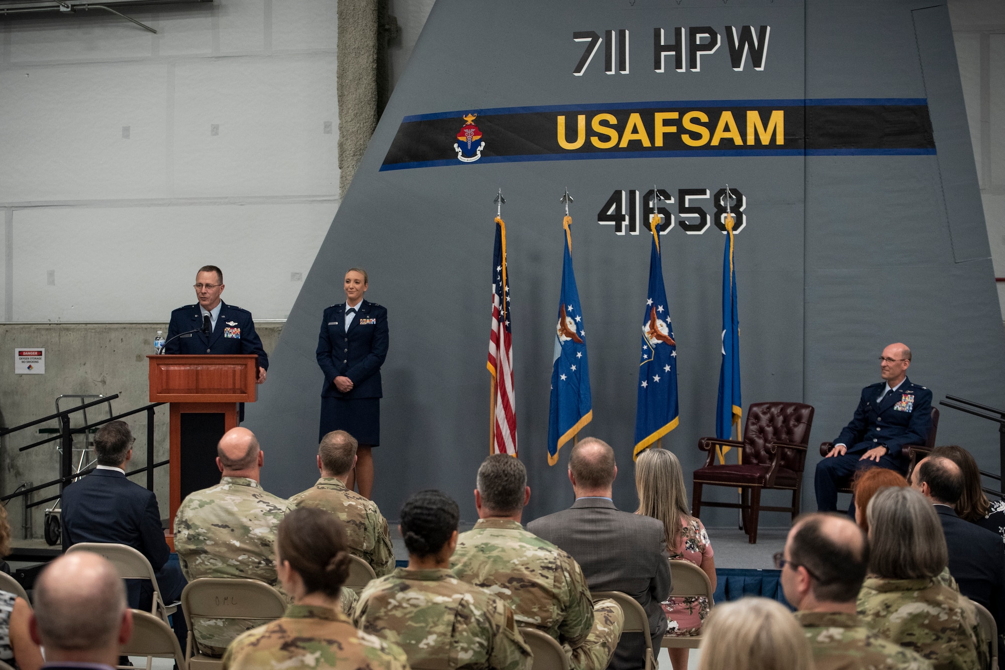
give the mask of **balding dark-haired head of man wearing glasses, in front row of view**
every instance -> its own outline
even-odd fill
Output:
[[[865,535],[843,515],[813,514],[797,520],[785,554],[793,571],[802,569],[811,578],[810,592],[817,603],[853,603],[869,563]]]

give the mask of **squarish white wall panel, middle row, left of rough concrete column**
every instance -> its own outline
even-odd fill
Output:
[[[336,194],[335,69],[334,54],[179,63],[174,195]]]

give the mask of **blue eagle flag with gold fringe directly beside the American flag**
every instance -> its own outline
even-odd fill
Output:
[[[559,460],[559,449],[593,419],[590,366],[586,356],[586,326],[579,308],[576,273],[572,268],[572,219],[566,217],[565,258],[559,297],[555,358],[552,363],[552,401],[548,416],[548,464]]]

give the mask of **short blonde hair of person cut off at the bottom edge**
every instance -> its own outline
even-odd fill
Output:
[[[698,670],[812,670],[803,627],[780,603],[742,598],[713,608],[702,626]],[[728,644],[723,641],[729,640]]]

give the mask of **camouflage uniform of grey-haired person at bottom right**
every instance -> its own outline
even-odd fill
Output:
[[[870,577],[858,592],[858,614],[869,629],[918,652],[935,670],[987,665],[974,606],[936,580]]]

